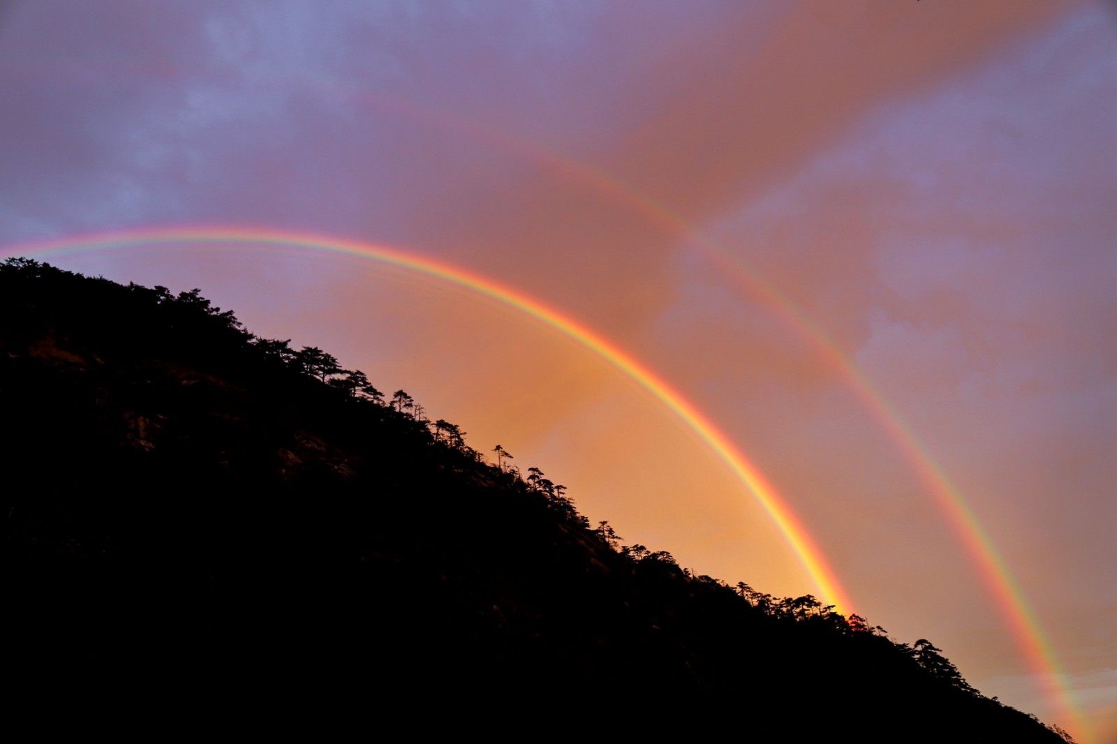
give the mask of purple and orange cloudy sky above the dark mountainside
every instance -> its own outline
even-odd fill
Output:
[[[1099,744],[1115,143],[1101,1],[0,4],[0,256],[199,287]]]

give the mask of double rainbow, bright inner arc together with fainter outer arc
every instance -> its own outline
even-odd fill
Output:
[[[121,70],[115,70],[115,73],[121,74]],[[283,79],[276,79],[275,83],[279,85],[289,84],[289,82]],[[1067,689],[1066,677],[1059,670],[1051,643],[1047,640],[1035,612],[1032,610],[1019,583],[996,550],[989,533],[965,503],[958,488],[947,477],[926,445],[920,441],[911,427],[880,393],[859,365],[817,323],[800,311],[794,303],[790,302],[785,295],[765,282],[757,273],[751,270],[742,261],[731,256],[713,240],[705,237],[688,221],[663,206],[657,204],[637,189],[623,183],[619,179],[589,168],[570,158],[551,152],[535,143],[513,137],[489,125],[446,111],[409,102],[395,96],[373,93],[352,86],[331,84],[325,80],[317,80],[316,84],[333,96],[352,97],[366,105],[391,111],[398,115],[420,121],[438,128],[458,133],[466,132],[474,137],[485,140],[506,151],[532,160],[541,164],[545,170],[557,174],[564,180],[574,182],[581,188],[592,190],[617,203],[624,204],[650,222],[685,239],[687,245],[695,247],[708,260],[719,266],[723,269],[723,276],[732,277],[737,286],[748,296],[758,299],[771,312],[781,317],[787,327],[808,341],[824,359],[830,361],[833,368],[840,372],[850,390],[858,395],[876,420],[890,435],[899,451],[908,460],[914,471],[918,474],[925,488],[945,515],[946,521],[953,527],[960,542],[965,546],[974,564],[978,566],[983,581],[991,589],[997,607],[1005,617],[1018,643],[1023,649],[1029,664],[1043,678],[1053,680],[1054,687],[1050,693],[1057,707],[1062,710],[1063,715],[1067,715],[1078,724],[1082,736],[1089,736],[1089,727],[1086,718]],[[851,609],[852,604],[833,576],[833,572],[822,560],[814,542],[795,518],[794,514],[787,508],[784,500],[764,479],[756,467],[736,449],[708,418],[698,411],[677,390],[668,385],[661,378],[652,373],[617,344],[604,338],[579,321],[487,277],[397,248],[324,236],[245,228],[133,230],[117,233],[102,233],[86,238],[77,237],[27,244],[3,249],[2,252],[8,255],[49,255],[78,250],[134,247],[152,242],[266,244],[361,256],[449,282],[535,318],[537,322],[574,340],[576,343],[607,360],[674,411],[714,449],[734,475],[762,504],[775,522],[780,532],[784,535],[803,569],[811,576],[821,597],[828,603],[837,605],[839,611],[848,612]]]

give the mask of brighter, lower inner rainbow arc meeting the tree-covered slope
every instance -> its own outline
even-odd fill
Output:
[[[399,248],[305,232],[245,227],[151,228],[103,232],[8,246],[2,251],[10,256],[65,255],[111,248],[151,246],[153,244],[267,245],[357,256],[441,279],[524,313],[592,351],[678,416],[714,450],[733,475],[760,502],[787,542],[800,565],[811,578],[824,603],[834,605],[838,612],[849,613],[852,611],[852,602],[834,576],[833,570],[823,560],[814,540],[756,466],[734,446],[713,421],[662,378],[600,333],[538,299],[486,276]]]

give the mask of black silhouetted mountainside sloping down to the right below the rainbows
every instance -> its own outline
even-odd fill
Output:
[[[8,676],[50,699],[1061,741],[817,602],[619,552],[550,481],[197,293],[8,264],[0,312]]]

